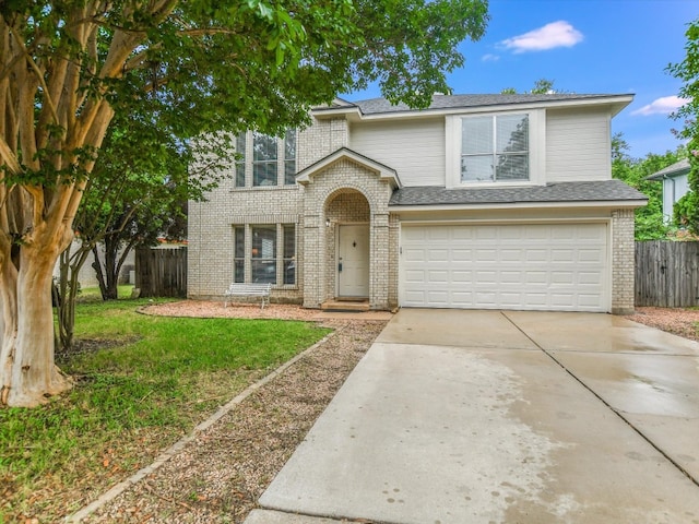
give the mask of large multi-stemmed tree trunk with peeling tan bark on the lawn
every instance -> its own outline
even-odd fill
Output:
[[[105,96],[177,0],[15,3],[0,16],[0,404],[35,406],[71,385],[54,361],[51,281],[114,117]],[[127,28],[103,32],[112,9]]]

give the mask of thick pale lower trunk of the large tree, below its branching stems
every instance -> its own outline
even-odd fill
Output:
[[[54,360],[52,272],[61,246],[24,245],[20,269],[3,272],[2,393],[11,406],[33,407],[71,388]],[[16,281],[12,282],[12,274]]]

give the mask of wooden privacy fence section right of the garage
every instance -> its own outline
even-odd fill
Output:
[[[699,242],[636,242],[636,306],[699,306]]]

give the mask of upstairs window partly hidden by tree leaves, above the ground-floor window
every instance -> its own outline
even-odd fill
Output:
[[[248,131],[236,138],[236,188],[296,183],[296,130],[284,138]]]

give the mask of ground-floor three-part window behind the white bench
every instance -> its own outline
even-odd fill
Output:
[[[234,282],[296,284],[296,225],[236,225]]]

